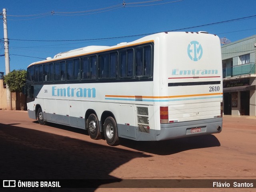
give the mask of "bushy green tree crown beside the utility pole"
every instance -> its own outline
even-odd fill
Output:
[[[13,70],[4,76],[4,82],[8,85],[10,92],[21,92],[26,84],[26,70]]]

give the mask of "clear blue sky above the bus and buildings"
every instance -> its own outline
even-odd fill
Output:
[[[256,34],[255,0],[1,0],[10,71],[76,48],[113,46],[146,34],[206,31],[231,42]],[[0,55],[4,25],[0,15]],[[5,58],[0,56],[0,72]]]

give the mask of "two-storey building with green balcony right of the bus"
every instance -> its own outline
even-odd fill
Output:
[[[256,35],[221,48],[225,115],[256,116]]]

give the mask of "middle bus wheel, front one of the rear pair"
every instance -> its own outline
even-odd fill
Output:
[[[98,140],[101,139],[100,124],[95,114],[90,114],[87,120],[87,130],[90,138]]]

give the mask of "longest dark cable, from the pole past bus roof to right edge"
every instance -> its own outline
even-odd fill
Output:
[[[214,23],[210,23],[210,24],[204,24],[204,25],[198,25],[198,26],[174,29],[174,30],[169,30],[168,32],[180,31],[180,30],[186,30],[186,29],[192,29],[192,28],[198,28],[198,27],[205,27],[205,26],[211,26],[211,25],[216,25],[216,24],[223,24],[223,23],[227,23],[227,22],[234,22],[234,21],[239,21],[239,20],[244,20],[244,19],[250,19],[250,18],[254,18],[254,17],[256,17],[256,15],[242,17],[242,18],[236,18],[236,19],[231,19],[231,20],[226,20],[226,21],[220,21],[220,22],[214,22]],[[146,34],[137,34],[137,35],[129,35],[129,36],[120,36],[120,37],[95,38],[95,39],[78,39],[78,40],[25,40],[25,39],[9,39],[9,40],[34,41],[34,42],[35,41],[36,42],[65,42],[65,41],[71,42],[71,41],[91,41],[91,40],[110,40],[110,39],[118,39],[118,38],[130,38],[130,37],[136,37],[136,36],[152,35],[152,34],[156,34],[156,33],[158,33],[158,32],[146,33]]]

